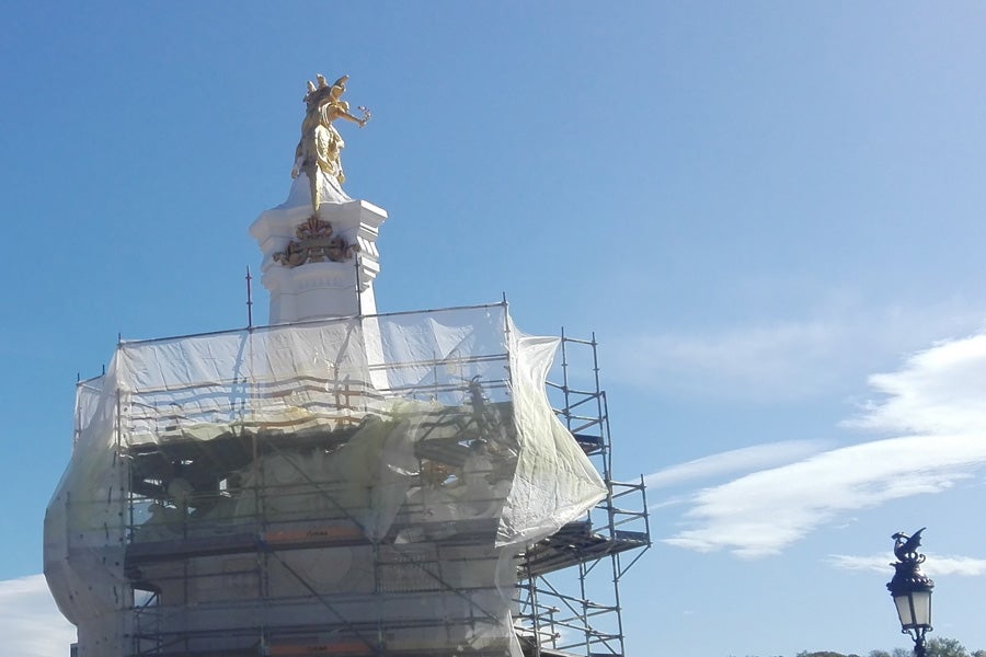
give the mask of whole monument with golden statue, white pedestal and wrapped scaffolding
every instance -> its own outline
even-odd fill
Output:
[[[45,517],[78,655],[623,655],[650,534],[595,339],[525,335],[505,301],[377,313],[387,215],[343,192],[333,125],[369,113],[317,80],[250,228],[270,324],[122,341],[78,385]]]

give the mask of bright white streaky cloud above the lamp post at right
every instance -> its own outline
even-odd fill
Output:
[[[870,381],[886,396],[853,426],[920,434],[814,453],[704,488],[691,497],[685,528],[665,542],[746,557],[777,554],[839,514],[939,493],[986,468],[986,402],[977,399],[986,383],[986,336],[940,343]],[[725,469],[730,453],[703,461]],[[745,457],[740,450],[734,464]],[[686,463],[663,473],[689,470],[701,468]]]

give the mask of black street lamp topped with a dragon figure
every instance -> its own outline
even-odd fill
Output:
[[[909,537],[904,532],[891,537],[897,561],[891,564],[894,578],[886,585],[901,618],[901,632],[914,639],[915,657],[925,657],[925,634],[931,631],[931,589],[935,583],[921,572],[925,555],[917,551],[925,529],[922,527]]]

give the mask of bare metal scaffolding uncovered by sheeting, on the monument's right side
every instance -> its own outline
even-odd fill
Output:
[[[555,414],[603,474],[606,497],[585,518],[531,545],[521,560],[519,633],[532,657],[624,655],[620,579],[651,546],[646,493],[612,477],[612,442],[598,344],[561,333]]]

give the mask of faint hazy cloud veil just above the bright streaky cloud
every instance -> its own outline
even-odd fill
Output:
[[[845,393],[888,359],[981,323],[954,302],[873,310],[837,298],[769,324],[622,336],[607,360],[618,378],[667,394],[777,403]]]

